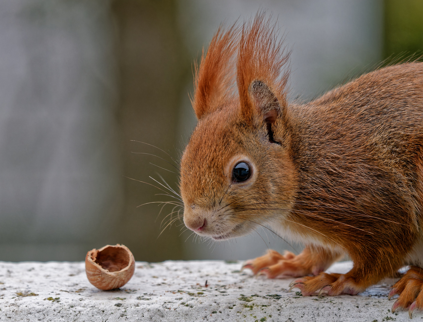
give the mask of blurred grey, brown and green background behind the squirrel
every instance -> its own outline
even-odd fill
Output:
[[[148,185],[177,189],[192,61],[220,23],[261,8],[292,47],[293,97],[423,50],[421,0],[1,0],[0,260],[80,261],[115,243],[140,261],[300,251],[265,230],[200,243],[177,221],[160,234],[179,208],[159,215],[152,202],[172,198]]]

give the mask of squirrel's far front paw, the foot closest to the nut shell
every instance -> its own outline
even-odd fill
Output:
[[[249,268],[254,274],[266,275],[267,278],[300,277],[308,274],[318,274],[323,270],[313,263],[310,265],[309,250],[299,255],[285,251],[283,255],[275,250],[255,259],[247,260],[242,269]]]

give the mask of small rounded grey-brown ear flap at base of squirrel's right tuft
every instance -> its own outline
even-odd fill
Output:
[[[261,80],[255,80],[251,83],[248,91],[253,97],[257,113],[263,116],[263,121],[267,124],[274,123],[281,110],[279,101],[269,86]]]

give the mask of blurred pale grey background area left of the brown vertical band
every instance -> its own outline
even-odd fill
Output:
[[[0,2],[0,260],[107,242],[123,206],[112,27],[106,0]]]

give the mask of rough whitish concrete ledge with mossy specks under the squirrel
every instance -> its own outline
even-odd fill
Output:
[[[390,284],[356,296],[303,297],[290,279],[240,272],[241,262],[137,262],[121,289],[101,291],[83,262],[0,262],[0,321],[408,321],[390,312]],[[351,262],[332,265],[346,272]],[[206,286],[207,281],[207,286]],[[389,283],[389,282],[388,282]],[[390,281],[392,283],[392,281]],[[423,319],[415,311],[413,320]]]

